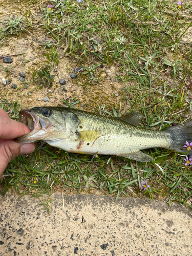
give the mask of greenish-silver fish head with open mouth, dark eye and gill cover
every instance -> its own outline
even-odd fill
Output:
[[[61,140],[77,130],[79,119],[67,108],[35,107],[19,112],[19,121],[28,125],[31,132],[16,139],[20,143],[36,140]]]

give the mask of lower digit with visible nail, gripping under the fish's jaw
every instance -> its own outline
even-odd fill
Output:
[[[35,150],[34,143],[22,144],[14,140],[0,140],[0,178],[8,163],[22,154],[30,154]]]

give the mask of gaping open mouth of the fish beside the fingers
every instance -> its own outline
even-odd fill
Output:
[[[19,122],[26,124],[31,129],[31,132],[17,138],[17,142],[29,143],[35,140],[43,140],[47,137],[48,131],[46,124],[35,112],[30,110],[20,111]]]

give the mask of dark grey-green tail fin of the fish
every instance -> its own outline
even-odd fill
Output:
[[[192,142],[192,121],[174,125],[164,130],[169,134],[169,150],[178,152],[189,152],[186,145],[186,141],[190,144]]]

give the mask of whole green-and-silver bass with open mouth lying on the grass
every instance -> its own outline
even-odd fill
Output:
[[[192,121],[152,131],[137,127],[143,118],[137,112],[106,117],[62,106],[34,107],[19,112],[19,121],[31,132],[16,141],[42,140],[71,153],[115,155],[140,162],[152,161],[152,156],[141,151],[147,148],[187,153],[183,145],[192,141]]]

